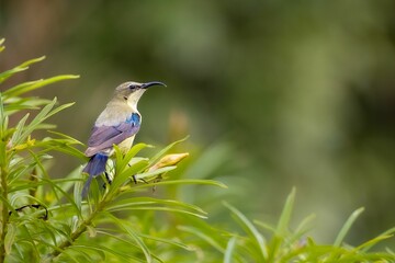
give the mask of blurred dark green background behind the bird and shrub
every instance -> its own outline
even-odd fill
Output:
[[[167,83],[142,99],[137,141],[190,134],[187,176],[232,193],[211,193],[212,205],[230,198],[274,222],[296,186],[295,219],[315,213],[318,240],[331,241],[360,206],[351,242],[395,225],[392,0],[0,0],[0,35],[1,70],[47,56],[1,89],[81,76],[37,94],[77,102],[53,122],[83,142],[117,84]]]

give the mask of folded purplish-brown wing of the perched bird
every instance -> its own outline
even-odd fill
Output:
[[[139,125],[134,123],[122,123],[117,126],[94,126],[88,141],[86,156],[91,157],[95,153],[119,145],[128,137],[138,133]]]

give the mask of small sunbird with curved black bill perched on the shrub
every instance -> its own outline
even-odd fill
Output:
[[[112,100],[95,121],[88,140],[84,155],[90,160],[82,172],[88,173],[89,178],[83,185],[82,196],[88,193],[92,179],[105,172],[106,161],[114,153],[113,145],[120,147],[123,153],[132,148],[142,124],[137,103],[147,88],[153,85],[166,87],[159,81],[147,83],[128,81],[115,89]]]

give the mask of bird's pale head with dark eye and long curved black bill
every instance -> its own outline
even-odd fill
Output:
[[[125,83],[120,84],[115,89],[114,99],[117,101],[122,100],[125,101],[129,106],[136,107],[137,102],[143,95],[143,93],[153,85],[165,85],[162,82],[159,81],[150,81],[147,83],[138,83],[134,81],[128,81]]]

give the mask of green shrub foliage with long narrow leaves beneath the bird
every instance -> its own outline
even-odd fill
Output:
[[[0,41],[0,52],[4,49]],[[0,73],[0,84],[44,57]],[[173,198],[153,197],[154,187],[201,184],[225,187],[211,180],[167,176],[188,153],[169,155],[176,141],[153,157],[137,157],[150,147],[135,145],[123,156],[115,147],[109,164],[113,182],[94,180],[87,198],[81,167],[61,178],[48,169],[52,152],[87,162],[83,144],[55,132],[47,121],[74,103],[30,96],[29,92],[76,79],[61,75],[27,81],[0,95],[0,262],[393,262],[387,249],[371,252],[395,229],[358,247],[345,238],[362,208],[346,221],[332,244],[317,244],[307,236],[312,217],[291,230],[295,191],[289,195],[275,226],[250,220],[224,203],[236,222],[202,220],[200,207]],[[40,133],[37,133],[37,130]],[[104,185],[103,185],[104,184]],[[215,190],[215,188],[214,188]],[[163,216],[165,215],[165,216]],[[166,216],[168,215],[168,216]],[[171,215],[171,216],[170,216]],[[235,225],[233,225],[235,226]],[[239,229],[237,229],[239,228]],[[263,233],[264,232],[264,233]]]

